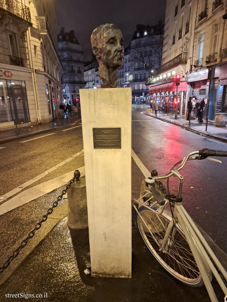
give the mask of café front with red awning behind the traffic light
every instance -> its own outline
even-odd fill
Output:
[[[178,96],[176,97],[176,83],[167,82],[160,85],[152,85],[149,89],[149,94],[152,95],[153,103],[157,100],[160,112],[165,114],[174,114],[177,106],[178,113],[182,112],[182,103],[186,99],[188,84],[186,81],[181,81],[178,86]]]

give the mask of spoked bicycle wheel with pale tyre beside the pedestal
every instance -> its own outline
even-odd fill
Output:
[[[153,207],[155,209],[155,207]],[[166,229],[171,218],[163,212],[158,215],[146,207],[138,209],[141,217],[137,213],[137,226],[148,249],[152,252],[158,262],[173,277],[179,281],[194,287],[203,285],[202,277],[192,255],[186,238],[178,225],[174,226],[173,238],[168,239],[166,248],[160,249]],[[151,233],[152,235],[151,235]]]

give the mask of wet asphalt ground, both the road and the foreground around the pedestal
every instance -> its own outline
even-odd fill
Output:
[[[227,149],[225,143],[156,120],[141,114],[141,111],[140,108],[133,106],[132,149],[149,171],[157,169],[159,175],[166,174],[173,164],[193,150]],[[65,132],[60,129],[53,133],[55,134],[26,143],[19,143],[19,140],[1,145],[5,147],[0,150],[3,165],[1,195],[83,149],[81,127]],[[207,160],[191,161],[181,170],[185,181],[183,203],[192,218],[227,252],[225,222],[227,159],[219,159],[222,159],[222,165]],[[84,157],[77,156],[29,187],[83,165]],[[132,160],[133,197],[139,196],[143,178],[142,172]],[[170,182],[171,192],[176,192],[176,188],[177,183],[174,179]],[[24,237],[31,230],[61,189],[41,196],[0,217],[2,252],[10,249],[18,238]],[[65,200],[60,204],[64,202]],[[66,222],[67,219],[62,220],[3,284],[0,301],[5,300],[2,293],[16,292],[48,292],[47,300],[54,302],[209,301],[204,287],[197,289],[187,287],[160,268],[140,238],[134,213],[132,279],[96,279],[86,276],[83,272],[86,260],[84,241],[78,240],[78,238],[87,238],[86,230],[83,231],[84,233],[80,232],[81,234],[72,232],[70,234]],[[75,239],[73,243],[71,238]],[[214,287],[217,288],[216,283]],[[221,298],[222,296],[220,301]]]

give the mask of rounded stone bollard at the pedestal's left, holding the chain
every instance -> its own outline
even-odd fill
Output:
[[[87,220],[87,195],[85,178],[75,181],[67,191],[68,226],[71,229],[85,229]]]

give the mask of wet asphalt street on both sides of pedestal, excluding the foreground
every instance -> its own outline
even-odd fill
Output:
[[[144,108],[146,107],[147,105],[144,105]],[[202,148],[227,150],[226,143],[202,137],[178,126],[146,116],[141,114],[141,111],[142,109],[138,106],[132,107],[132,149],[149,171],[156,169],[159,175],[166,174],[172,165],[193,150]],[[83,149],[82,127],[68,131],[61,130],[50,132],[55,134],[37,140],[20,143],[27,140],[22,139],[2,145],[5,148],[0,150],[2,161],[0,195]],[[222,160],[222,164],[208,160],[188,162],[181,170],[184,177],[182,195],[184,207],[192,218],[219,247],[227,252],[227,158],[219,159]],[[27,188],[83,165],[84,157],[77,156]],[[132,160],[132,195],[134,197],[139,195],[143,178],[140,169]],[[177,182],[173,179],[170,181],[170,192],[176,193],[176,188]],[[27,207],[29,208],[28,205]],[[32,206],[32,215],[34,210]]]

